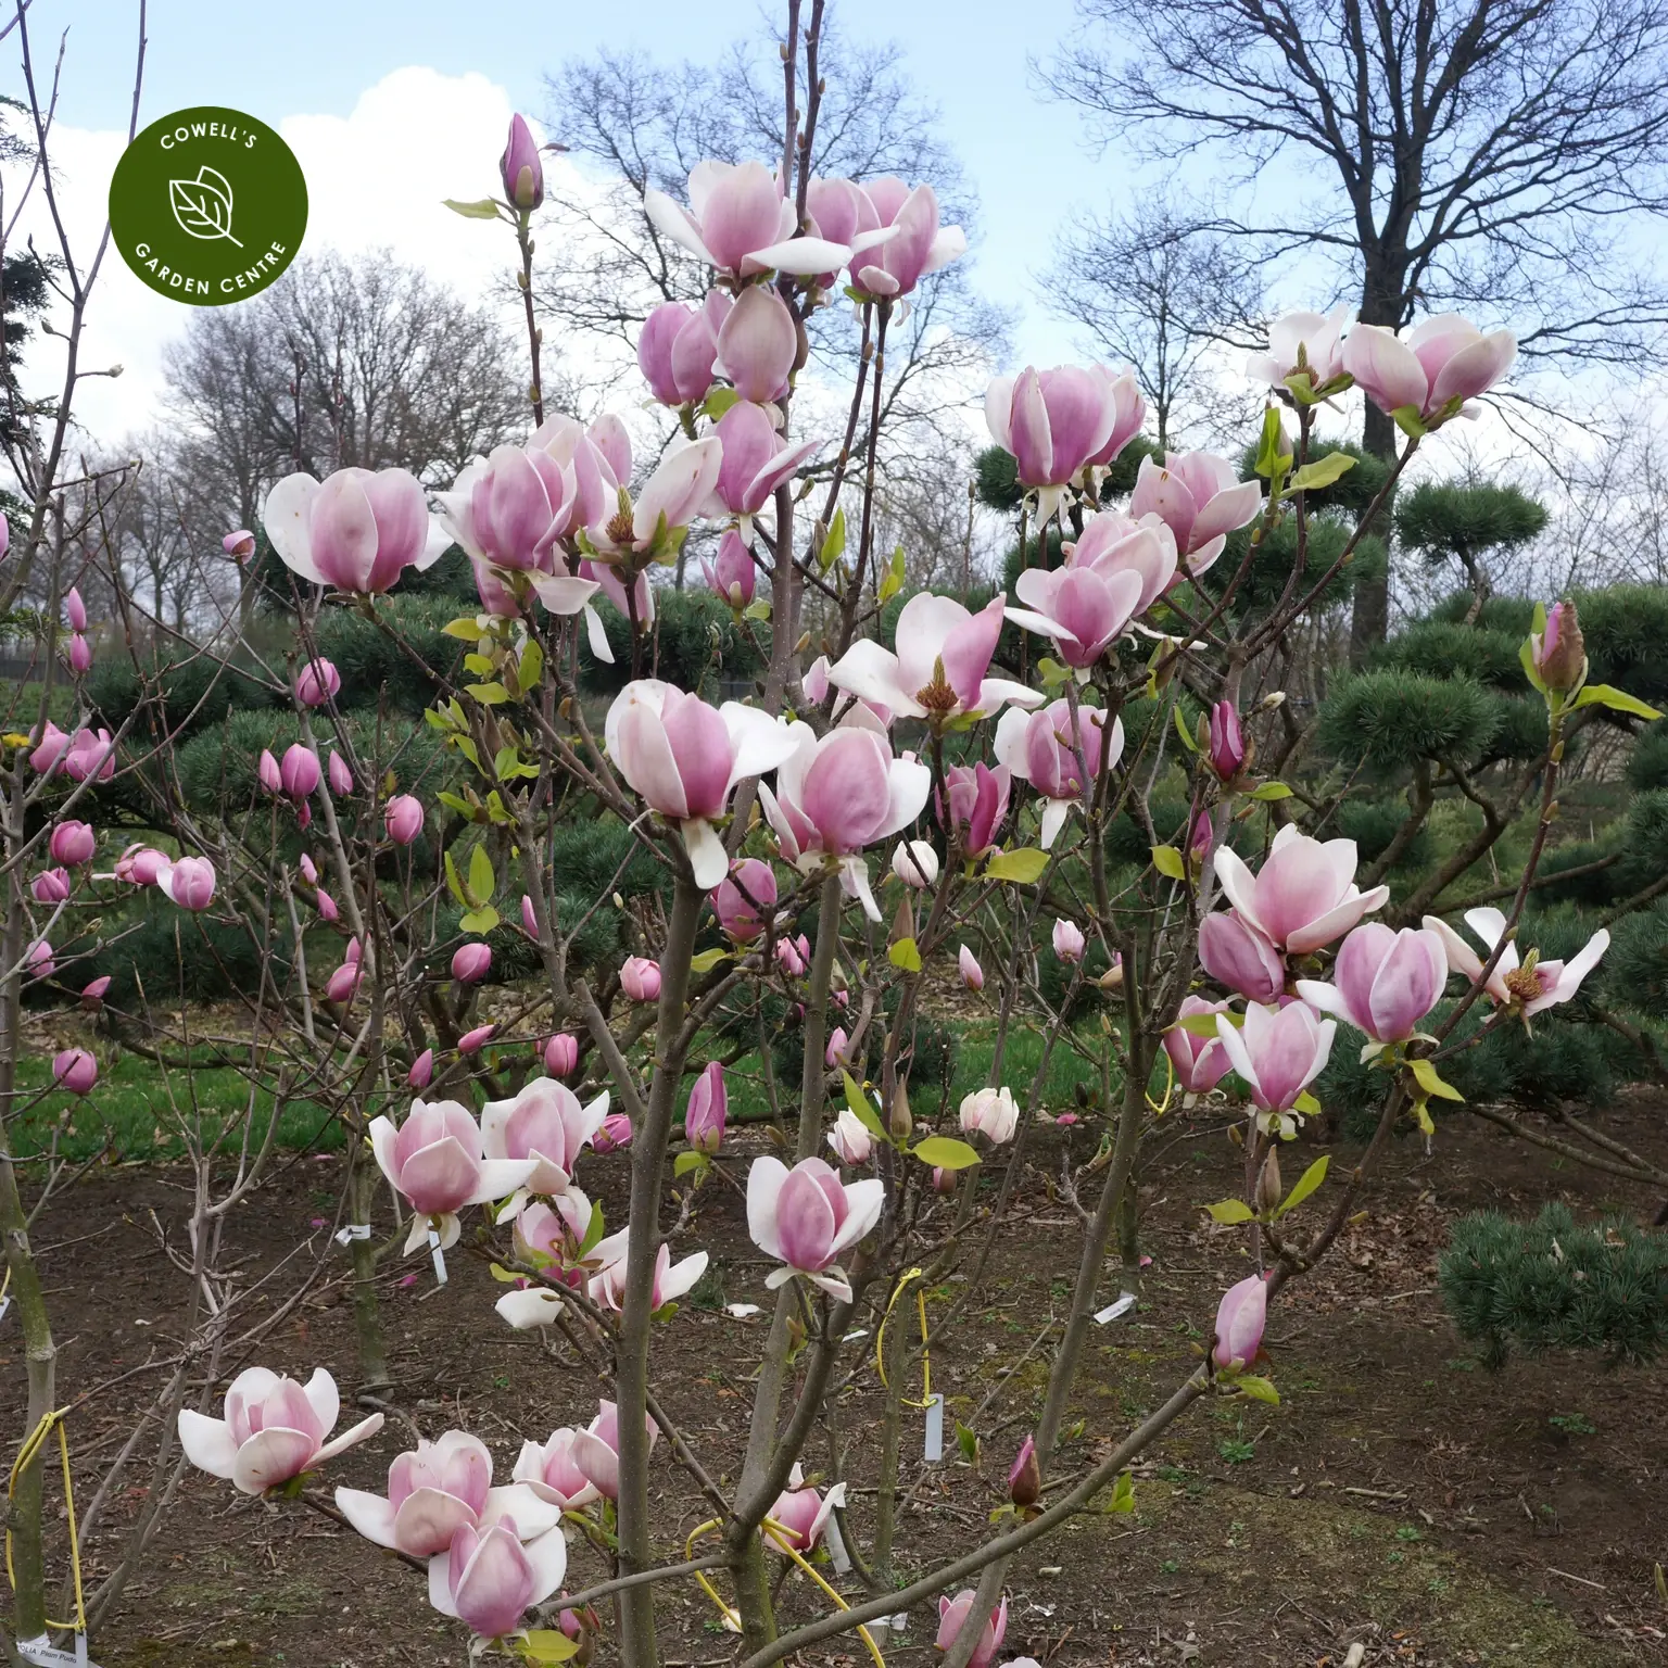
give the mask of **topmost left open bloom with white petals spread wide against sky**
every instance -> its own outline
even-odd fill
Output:
[[[771,270],[809,277],[842,267],[851,254],[821,237],[794,237],[794,205],[762,162],[697,162],[689,208],[659,190],[644,192],[642,207],[659,232],[732,277]]]

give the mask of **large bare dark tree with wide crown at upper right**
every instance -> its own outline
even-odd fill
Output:
[[[1668,207],[1661,0],[1078,0],[1044,70],[1101,140],[1209,152],[1244,208],[1213,222],[1268,259],[1329,254],[1361,319],[1481,309],[1531,357],[1636,369],[1668,295],[1640,217]],[[1253,190],[1254,187],[1254,190]],[[1373,405],[1364,442],[1389,455]],[[1356,657],[1388,585],[1359,585]]]

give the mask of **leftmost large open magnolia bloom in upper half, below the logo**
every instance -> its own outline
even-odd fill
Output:
[[[322,482],[285,475],[260,519],[294,574],[362,594],[387,590],[407,567],[432,567],[452,542],[405,469],[339,469]]]

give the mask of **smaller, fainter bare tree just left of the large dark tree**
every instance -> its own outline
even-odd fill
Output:
[[[1178,409],[1226,427],[1213,362],[1248,345],[1261,314],[1256,262],[1198,222],[1184,203],[1143,197],[1063,232],[1044,277],[1049,309],[1081,327],[1084,347],[1134,369],[1159,447],[1174,442]]]

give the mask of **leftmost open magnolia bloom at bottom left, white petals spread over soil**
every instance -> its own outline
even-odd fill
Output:
[[[198,1471],[227,1478],[245,1495],[264,1495],[382,1429],[382,1414],[372,1413],[325,1441],[340,1411],[335,1379],[324,1368],[297,1384],[252,1366],[227,1388],[225,1418],[180,1411],[180,1448]]]

